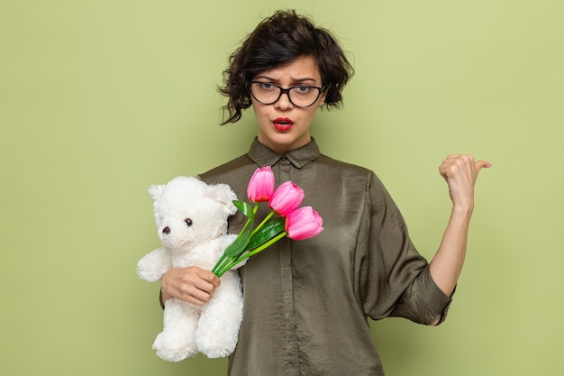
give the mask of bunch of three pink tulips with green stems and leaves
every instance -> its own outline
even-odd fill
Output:
[[[221,277],[225,271],[248,259],[285,236],[304,240],[323,231],[323,219],[312,206],[302,206],[304,190],[292,181],[286,181],[274,189],[274,174],[270,166],[257,169],[247,188],[249,203],[234,200],[233,204],[247,217],[241,233],[225,249],[223,256],[212,270]],[[268,216],[255,227],[255,215],[259,203],[268,202]],[[277,217],[274,217],[277,214]]]

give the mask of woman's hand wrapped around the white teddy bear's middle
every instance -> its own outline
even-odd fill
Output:
[[[177,298],[204,306],[219,285],[219,278],[211,271],[197,266],[172,268],[162,277],[162,300]]]

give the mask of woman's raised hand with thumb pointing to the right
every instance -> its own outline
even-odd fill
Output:
[[[449,195],[454,206],[472,210],[478,172],[489,167],[491,164],[486,160],[475,161],[469,154],[449,155],[442,161],[439,172],[449,185]]]

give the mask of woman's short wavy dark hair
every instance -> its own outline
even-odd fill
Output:
[[[325,105],[339,108],[342,88],[354,73],[339,42],[331,32],[315,27],[294,10],[277,11],[247,36],[223,71],[223,87],[219,90],[229,100],[223,106],[222,125],[239,121],[242,110],[250,107],[252,78],[305,56],[317,63],[327,92]]]

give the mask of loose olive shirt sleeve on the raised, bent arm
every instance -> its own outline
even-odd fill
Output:
[[[417,252],[396,204],[378,177],[369,172],[359,224],[359,297],[367,316],[405,317],[431,325],[444,321],[451,297],[432,280],[429,263]]]

